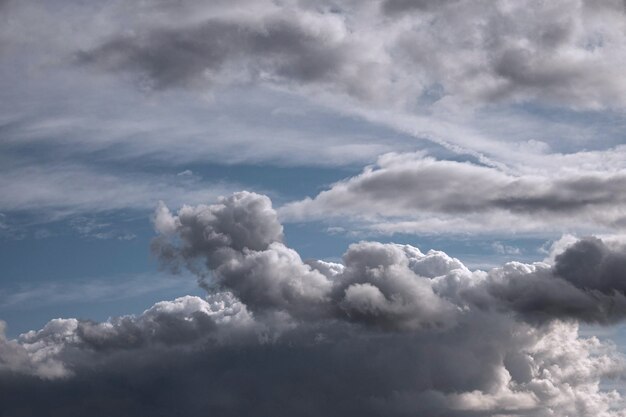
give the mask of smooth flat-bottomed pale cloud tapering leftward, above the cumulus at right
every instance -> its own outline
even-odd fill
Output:
[[[407,233],[622,230],[626,173],[515,174],[422,154],[388,154],[314,198],[281,207],[286,220],[360,219]]]

